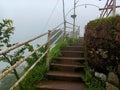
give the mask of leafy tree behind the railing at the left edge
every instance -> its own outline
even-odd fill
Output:
[[[10,44],[10,36],[14,31],[13,22],[12,20],[5,19],[3,22],[0,23],[0,51],[4,48],[11,47],[15,44]],[[0,56],[0,61],[7,62],[10,66],[14,65],[20,58],[23,57],[25,48],[21,48],[14,52],[13,54],[5,53]],[[4,69],[6,70],[9,68],[8,66]],[[4,71],[3,70],[3,71]],[[16,79],[19,79],[19,74],[16,69],[13,70],[13,74],[15,75]],[[20,89],[22,89],[22,85],[19,84]]]

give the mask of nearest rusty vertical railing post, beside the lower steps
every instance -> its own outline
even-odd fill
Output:
[[[47,60],[46,60],[46,68],[49,70],[49,64],[50,64],[50,32],[51,30],[48,30],[48,44],[47,44]]]

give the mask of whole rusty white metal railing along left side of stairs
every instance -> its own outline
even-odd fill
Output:
[[[63,24],[63,23],[62,23]],[[35,52],[37,52],[38,50],[40,50],[40,48],[42,48],[43,46],[47,45],[47,50],[42,54],[42,56],[39,57],[38,60],[36,60],[33,65],[20,77],[20,79],[10,88],[10,90],[13,90],[15,87],[17,87],[20,82],[29,74],[29,72],[37,65],[38,62],[41,61],[41,59],[46,55],[46,69],[49,70],[49,64],[50,64],[50,49],[51,47],[53,48],[57,42],[59,42],[60,39],[64,39],[64,31],[63,29],[60,28],[60,26],[62,25],[58,25],[56,28],[54,28],[54,30],[48,30],[48,32],[41,34],[39,36],[36,36],[32,39],[29,39],[27,41],[21,42],[21,43],[17,43],[5,50],[0,51],[0,55],[4,55],[6,53],[9,53],[11,51],[13,51],[14,49],[17,49],[19,47],[22,47],[30,42],[33,42],[35,40],[38,40],[40,38],[42,38],[43,36],[47,36],[47,40],[44,44],[39,45],[39,47],[35,48],[32,52],[28,52],[28,54],[26,54],[23,58],[21,58],[19,61],[17,61],[14,65],[10,66],[7,70],[5,70],[4,72],[2,72],[0,74],[0,80],[3,79],[5,76],[7,76],[10,72],[12,72],[12,70],[16,69],[20,64],[22,64],[24,61],[26,61],[26,59],[28,59],[31,55],[33,55]],[[72,23],[66,22],[66,24],[70,24],[73,25]],[[79,26],[76,26],[77,28],[77,32],[80,30]],[[66,27],[67,28],[67,27]],[[55,31],[56,30],[56,31]],[[53,33],[53,34],[52,34]]]

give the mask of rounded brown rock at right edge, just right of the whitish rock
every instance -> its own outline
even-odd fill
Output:
[[[116,85],[119,85],[119,78],[114,72],[110,72],[108,74],[108,81],[110,81]]]

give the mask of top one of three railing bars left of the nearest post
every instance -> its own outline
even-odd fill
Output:
[[[18,48],[18,47],[20,47],[20,46],[23,46],[23,45],[25,45],[25,44],[27,44],[27,43],[29,43],[29,42],[32,42],[32,41],[34,41],[34,40],[36,40],[36,39],[38,39],[38,38],[40,38],[40,37],[42,37],[42,36],[45,36],[45,35],[47,35],[47,34],[48,34],[48,32],[47,32],[47,33],[44,33],[44,34],[41,34],[41,35],[39,35],[39,36],[37,36],[37,37],[34,37],[34,38],[30,39],[30,40],[27,40],[27,41],[25,41],[25,42],[18,43],[18,44],[14,45],[14,46],[12,46],[12,47],[9,47],[9,48],[7,48],[7,49],[5,49],[5,50],[2,50],[2,51],[0,51],[0,55],[5,54],[5,53],[7,53],[7,52],[9,52],[9,51],[11,51],[11,50],[14,50],[14,49],[16,49],[16,48]]]

